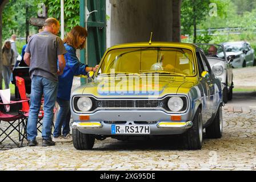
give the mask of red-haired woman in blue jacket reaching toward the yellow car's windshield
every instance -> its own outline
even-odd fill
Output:
[[[65,54],[66,67],[63,75],[59,76],[57,102],[59,104],[59,113],[55,121],[55,130],[53,133],[54,142],[71,142],[70,135],[70,94],[75,75],[86,75],[87,72],[95,72],[98,65],[88,67],[80,63],[76,55],[77,49],[85,48],[87,31],[81,26],[75,26],[63,40],[67,50]],[[63,129],[62,129],[63,127]],[[62,132],[61,132],[62,129]]]

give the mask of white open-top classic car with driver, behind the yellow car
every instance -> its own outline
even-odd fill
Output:
[[[221,44],[196,44],[201,47],[207,56],[211,65],[211,69],[215,76],[222,82],[223,102],[227,103],[228,100],[233,98],[233,71],[231,61],[234,55],[227,56],[225,48]],[[211,52],[215,50],[215,52]]]

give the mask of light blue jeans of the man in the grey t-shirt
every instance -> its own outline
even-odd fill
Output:
[[[30,110],[27,121],[27,139],[35,140],[37,137],[37,120],[41,107],[41,98],[44,94],[43,129],[42,138],[51,138],[51,125],[53,123],[53,109],[57,97],[58,82],[45,77],[34,76],[31,83]]]

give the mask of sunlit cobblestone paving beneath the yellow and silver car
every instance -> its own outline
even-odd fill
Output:
[[[184,150],[178,137],[107,138],[89,151],[75,150],[72,143],[41,147],[38,138],[37,147],[3,143],[0,170],[256,170],[256,110],[234,113],[226,107],[223,137],[205,138],[202,150]]]

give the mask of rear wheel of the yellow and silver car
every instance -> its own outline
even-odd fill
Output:
[[[222,107],[221,105],[218,108],[218,111],[215,115],[214,121],[206,127],[206,137],[207,138],[221,138],[222,137],[222,128],[223,128],[223,120],[222,120]]]

